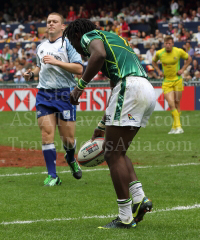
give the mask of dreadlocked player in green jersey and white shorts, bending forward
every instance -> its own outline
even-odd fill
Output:
[[[77,52],[89,57],[82,79],[70,94],[70,101],[79,104],[84,88],[98,71],[110,79],[112,93],[92,139],[105,134],[104,156],[117,194],[119,215],[100,228],[134,228],[151,210],[152,202],[145,196],[126,152],[154,110],[155,92],[127,41],[95,28],[91,21],[77,19],[63,32],[63,41],[68,37]]]

